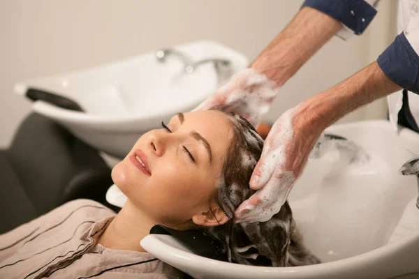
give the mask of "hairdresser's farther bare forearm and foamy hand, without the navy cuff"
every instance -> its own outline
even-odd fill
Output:
[[[311,7],[302,7],[290,24],[253,61],[195,110],[233,111],[257,126],[279,87],[343,25]]]

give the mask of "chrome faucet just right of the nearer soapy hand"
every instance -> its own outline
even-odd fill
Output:
[[[365,163],[369,160],[368,154],[362,149],[361,146],[347,140],[345,137],[339,135],[332,135],[323,133],[317,140],[314,149],[311,151],[310,158],[323,157],[332,147],[335,146],[339,152],[349,156],[349,163],[360,161]]]

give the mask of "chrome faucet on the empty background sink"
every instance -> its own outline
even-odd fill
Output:
[[[231,75],[233,75],[231,62],[227,59],[210,58],[192,62],[188,56],[177,50],[162,49],[156,52],[157,60],[160,62],[165,62],[166,57],[170,55],[177,56],[180,59],[180,61],[182,61],[182,63],[184,64],[183,71],[186,74],[193,73],[196,70],[196,68],[198,68],[198,66],[200,65],[206,63],[213,63],[219,85],[228,80],[228,78],[230,78]]]

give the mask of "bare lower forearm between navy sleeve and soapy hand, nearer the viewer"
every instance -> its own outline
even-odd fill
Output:
[[[400,89],[374,61],[328,91],[301,103],[297,113],[304,116],[303,121],[317,137],[345,114]]]

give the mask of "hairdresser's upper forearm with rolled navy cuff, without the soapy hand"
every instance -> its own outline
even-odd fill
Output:
[[[376,15],[376,2],[304,1],[300,12],[258,56],[251,68],[281,86],[335,34],[344,39],[353,33],[362,34]]]

